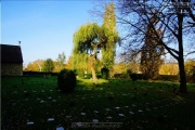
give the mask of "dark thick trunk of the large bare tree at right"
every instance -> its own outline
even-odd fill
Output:
[[[179,69],[180,69],[180,92],[186,93],[186,76],[185,76],[185,69],[184,69],[184,58],[183,58],[183,14],[178,15],[178,42],[179,42]]]

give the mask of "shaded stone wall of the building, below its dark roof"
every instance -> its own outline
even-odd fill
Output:
[[[22,63],[2,63],[1,76],[23,76]]]

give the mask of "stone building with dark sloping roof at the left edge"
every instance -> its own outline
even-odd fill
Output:
[[[21,46],[0,44],[1,76],[23,76]]]

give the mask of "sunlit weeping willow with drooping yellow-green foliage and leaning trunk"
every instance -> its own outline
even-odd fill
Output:
[[[90,62],[93,82],[96,83],[95,61],[98,53],[106,47],[105,28],[96,23],[87,23],[74,34],[74,63],[77,66]],[[77,64],[78,63],[78,64]]]

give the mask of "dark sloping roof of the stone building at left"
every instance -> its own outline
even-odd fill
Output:
[[[1,63],[23,63],[21,46],[0,44]]]

